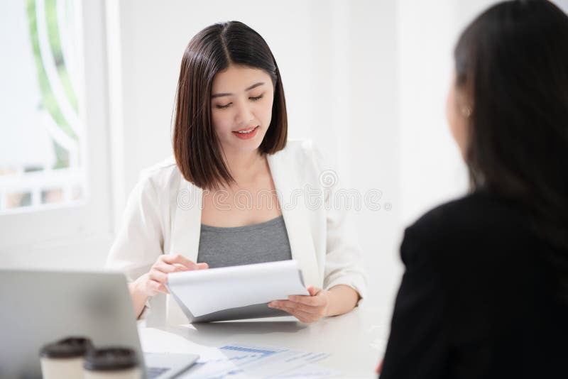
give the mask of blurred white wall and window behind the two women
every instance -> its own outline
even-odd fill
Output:
[[[452,49],[494,2],[1,1],[0,268],[102,268],[139,172],[172,154],[187,42],[238,20],[273,50],[290,138],[380,191],[354,219],[368,302],[390,317],[405,226],[467,190],[444,118]]]

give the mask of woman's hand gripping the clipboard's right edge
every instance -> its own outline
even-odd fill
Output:
[[[273,300],[268,307],[288,312],[301,322],[315,322],[327,316],[329,291],[317,287],[307,287],[307,295],[290,295],[288,300]]]

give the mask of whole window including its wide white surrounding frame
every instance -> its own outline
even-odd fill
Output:
[[[55,264],[63,252],[82,262],[89,248],[104,255],[104,2],[0,1],[0,17],[0,265]]]

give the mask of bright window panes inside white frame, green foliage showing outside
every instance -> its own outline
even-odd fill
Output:
[[[4,3],[0,214],[80,204],[84,126],[76,1]],[[4,37],[6,38],[6,37]]]

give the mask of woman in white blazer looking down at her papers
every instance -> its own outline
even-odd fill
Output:
[[[240,232],[279,218],[285,246],[266,248],[288,257],[268,259],[297,260],[310,296],[269,307],[314,322],[349,312],[364,297],[361,252],[334,198],[337,175],[310,141],[287,141],[278,66],[243,23],[209,26],[187,45],[173,150],[133,189],[107,259],[107,268],[126,273],[136,313],[148,309],[148,324],[187,323],[164,285],[168,273],[208,267],[200,262],[204,228]]]

